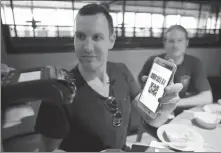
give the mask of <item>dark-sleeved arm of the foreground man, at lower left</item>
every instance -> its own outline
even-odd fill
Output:
[[[51,152],[58,149],[69,130],[63,107],[42,102],[35,124],[35,131],[41,134],[39,150]]]

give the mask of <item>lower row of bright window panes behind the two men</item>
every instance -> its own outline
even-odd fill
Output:
[[[63,25],[8,25],[11,37],[73,37],[74,27]],[[165,28],[124,27],[125,35],[122,36],[122,27],[114,27],[117,37],[162,37]],[[187,29],[190,38],[205,37],[207,35],[220,35],[220,29]]]

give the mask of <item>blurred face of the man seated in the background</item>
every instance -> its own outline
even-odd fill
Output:
[[[171,57],[184,55],[189,41],[183,31],[174,29],[167,33],[164,47],[167,54]]]

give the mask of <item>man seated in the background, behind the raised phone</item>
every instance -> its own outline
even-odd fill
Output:
[[[179,93],[181,100],[175,114],[184,109],[209,104],[213,101],[203,64],[198,58],[185,54],[188,44],[186,29],[180,25],[173,25],[166,30],[164,35],[166,54],[158,55],[164,59],[173,59],[177,65],[174,82],[180,82],[184,86]],[[152,56],[145,62],[138,76],[140,82],[143,75],[148,75],[155,57]]]

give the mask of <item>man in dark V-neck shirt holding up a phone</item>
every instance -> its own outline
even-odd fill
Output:
[[[79,64],[71,70],[77,93],[73,103],[66,106],[69,115],[56,105],[41,104],[35,129],[42,135],[43,151],[127,148],[131,101],[136,106],[141,91],[126,65],[107,62],[108,50],[114,43],[108,11],[97,4],[82,7],[75,19],[74,46]],[[164,105],[155,120],[138,109],[145,121],[155,127],[163,124],[179,101],[181,89],[182,84],[167,87]]]

